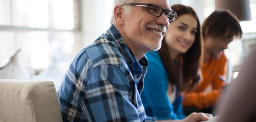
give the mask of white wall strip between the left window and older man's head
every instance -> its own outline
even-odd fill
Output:
[[[113,0],[82,1],[82,45],[91,44],[110,27]]]

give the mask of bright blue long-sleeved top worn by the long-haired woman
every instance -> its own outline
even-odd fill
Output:
[[[148,52],[148,69],[144,79],[144,88],[140,95],[146,115],[163,119],[183,119],[182,96],[175,97],[170,103],[167,96],[168,76],[158,52]],[[178,90],[178,87],[177,89]],[[177,93],[177,92],[176,92]]]

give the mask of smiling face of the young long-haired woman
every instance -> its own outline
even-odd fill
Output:
[[[190,14],[178,16],[174,22],[170,23],[165,36],[169,50],[175,53],[186,53],[195,41],[197,26],[194,16]]]

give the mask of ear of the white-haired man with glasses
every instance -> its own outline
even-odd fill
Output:
[[[119,25],[124,24],[124,18],[123,18],[123,8],[120,5],[115,6],[114,8],[114,19],[116,21],[116,23],[118,23]]]

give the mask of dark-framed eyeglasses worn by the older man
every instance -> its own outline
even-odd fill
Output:
[[[161,8],[158,5],[155,4],[144,4],[144,3],[129,3],[129,4],[124,4],[124,5],[133,5],[133,6],[138,6],[138,7],[147,7],[148,8],[148,13],[160,17],[162,13],[164,12],[164,15],[168,19],[168,21],[174,21],[177,17],[177,13],[171,10],[166,10]]]

